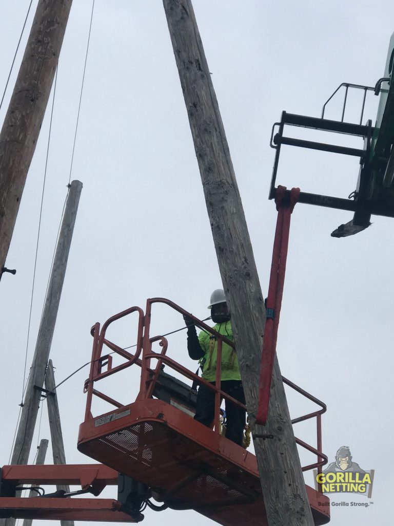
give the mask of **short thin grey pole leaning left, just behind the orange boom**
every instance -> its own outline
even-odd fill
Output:
[[[52,360],[49,360],[47,371],[45,374],[45,388],[49,391],[47,393],[47,407],[50,429],[50,441],[52,443],[52,453],[54,464],[65,464],[66,454],[64,452],[63,434],[61,433],[59,405],[57,403],[57,395],[55,389],[55,374]],[[68,485],[57,484],[57,491],[63,490],[69,493],[70,487]],[[61,520],[61,526],[74,526],[74,521]]]

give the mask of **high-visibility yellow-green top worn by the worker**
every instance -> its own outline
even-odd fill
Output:
[[[230,341],[233,340],[233,329],[231,322],[216,323],[215,331],[225,336]],[[199,334],[199,343],[205,355],[200,359],[202,367],[202,378],[209,382],[216,380],[216,362],[217,362],[217,339],[209,332],[201,331]],[[222,374],[221,380],[241,380],[240,365],[235,350],[222,342]]]

